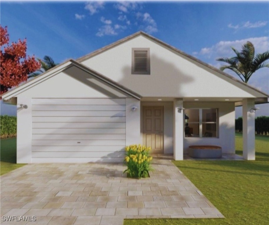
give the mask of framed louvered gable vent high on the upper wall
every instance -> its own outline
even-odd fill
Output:
[[[132,74],[150,74],[149,48],[132,48]]]

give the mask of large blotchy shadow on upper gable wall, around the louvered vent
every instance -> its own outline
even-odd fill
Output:
[[[119,83],[142,97],[143,93],[147,93],[147,96],[152,94],[149,97],[183,98],[186,95],[182,91],[182,87],[193,82],[188,74],[155,54],[150,56],[150,64],[150,75],[131,74],[130,66],[123,67],[122,79]]]

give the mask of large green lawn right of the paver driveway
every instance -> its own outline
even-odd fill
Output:
[[[269,224],[269,137],[256,136],[255,144],[255,161],[174,161],[225,219],[128,219],[124,224]],[[242,149],[242,134],[236,134],[236,153]]]

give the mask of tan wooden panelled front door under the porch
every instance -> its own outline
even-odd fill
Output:
[[[164,153],[164,108],[143,107],[143,145],[151,147],[151,153]]]

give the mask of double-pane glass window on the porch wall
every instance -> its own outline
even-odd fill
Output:
[[[186,109],[185,137],[218,137],[217,109]]]

